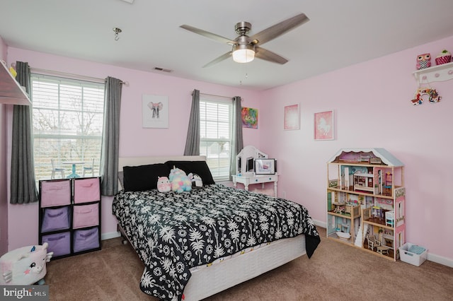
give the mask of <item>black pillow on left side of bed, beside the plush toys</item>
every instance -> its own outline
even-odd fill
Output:
[[[168,177],[170,168],[164,163],[122,167],[125,191],[144,191],[157,188],[158,177]]]

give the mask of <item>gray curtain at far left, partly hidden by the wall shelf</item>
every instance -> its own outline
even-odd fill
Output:
[[[16,80],[30,95],[30,68],[28,63],[16,62]],[[13,138],[11,146],[11,199],[10,203],[38,201],[33,160],[31,106],[14,105]]]

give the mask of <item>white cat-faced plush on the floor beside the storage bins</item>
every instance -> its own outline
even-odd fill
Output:
[[[54,252],[47,253],[49,244],[15,249],[0,257],[0,285],[44,284],[46,262]]]

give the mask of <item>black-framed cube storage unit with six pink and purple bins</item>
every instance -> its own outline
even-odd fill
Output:
[[[53,259],[101,249],[101,177],[39,182],[39,240]]]

